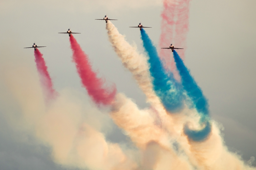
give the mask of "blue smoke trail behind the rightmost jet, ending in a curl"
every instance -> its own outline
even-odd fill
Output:
[[[194,141],[201,141],[207,138],[211,132],[211,124],[209,123],[209,105],[208,101],[202,93],[202,90],[197,85],[193,77],[190,75],[189,70],[183,63],[183,60],[179,57],[178,53],[173,51],[174,60],[176,62],[177,70],[179,71],[182,85],[187,91],[187,95],[193,101],[195,108],[201,115],[200,122],[205,124],[205,127],[202,130],[190,130],[186,125],[184,127],[185,134],[193,139]]]

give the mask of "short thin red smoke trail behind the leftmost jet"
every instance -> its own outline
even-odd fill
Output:
[[[47,66],[45,64],[43,55],[40,53],[38,49],[35,50],[34,55],[35,55],[37,71],[39,72],[39,75],[40,75],[40,81],[46,91],[46,100],[49,101],[50,99],[54,99],[54,97],[56,97],[58,93],[53,88],[51,77],[49,72],[47,71]]]

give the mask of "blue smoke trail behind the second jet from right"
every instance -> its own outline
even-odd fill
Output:
[[[163,64],[158,57],[156,47],[143,29],[141,30],[141,39],[149,56],[150,73],[153,77],[154,90],[157,96],[168,111],[175,112],[182,109],[185,98],[182,90],[177,90],[178,83],[175,81],[172,73],[166,74]]]

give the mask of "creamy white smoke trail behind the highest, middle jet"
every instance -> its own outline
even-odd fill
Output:
[[[134,79],[146,95],[147,102],[151,103],[160,117],[165,116],[166,110],[153,90],[146,57],[138,54],[136,47],[132,47],[110,21],[106,23],[106,30],[116,54],[120,57],[123,66],[133,74]]]

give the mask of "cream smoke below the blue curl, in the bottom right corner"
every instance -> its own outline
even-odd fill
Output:
[[[232,153],[225,146],[219,125],[212,121],[212,131],[205,141],[189,140],[186,154],[190,162],[198,169],[212,170],[255,170],[241,160],[241,156]]]

